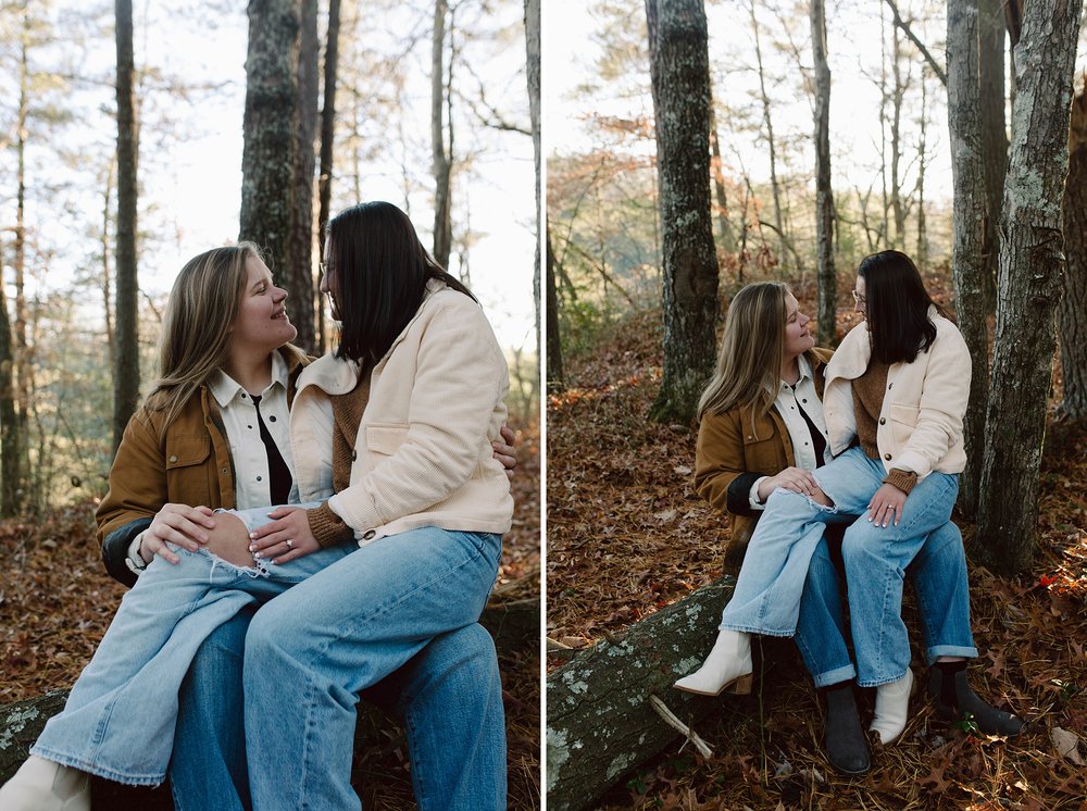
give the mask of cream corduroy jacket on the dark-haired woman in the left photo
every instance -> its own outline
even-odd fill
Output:
[[[360,545],[421,526],[508,532],[513,498],[490,444],[505,422],[509,372],[479,305],[427,284],[371,373],[351,485],[333,496],[328,395],[351,391],[358,379],[359,365],[333,354],[299,377],[290,444],[300,499],[328,499]]]

